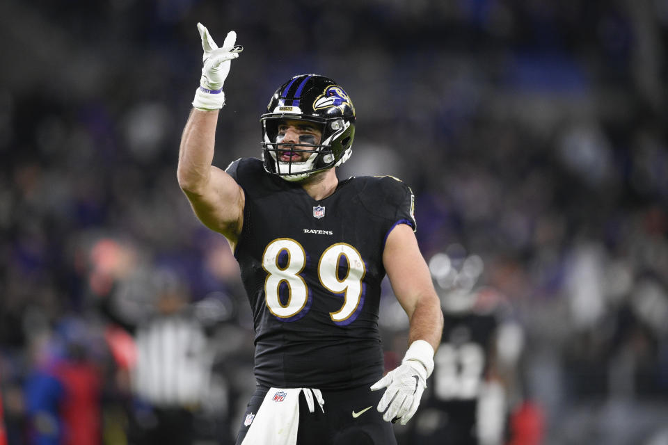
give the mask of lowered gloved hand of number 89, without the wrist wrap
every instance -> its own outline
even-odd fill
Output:
[[[417,411],[417,405],[420,405],[420,398],[427,387],[427,369],[417,360],[404,360],[394,371],[374,383],[371,390],[385,387],[387,389],[377,407],[379,412],[385,412],[383,420],[399,420],[401,425],[406,425]]]

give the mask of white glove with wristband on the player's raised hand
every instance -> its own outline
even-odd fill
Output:
[[[193,106],[200,110],[218,110],[225,104],[225,93],[221,88],[230,72],[230,60],[239,57],[239,53],[244,51],[244,48],[234,46],[237,40],[237,33],[234,31],[228,33],[223,46],[218,48],[206,26],[198,23],[197,29],[202,38],[204,66],[202,66],[200,88],[195,93]]]

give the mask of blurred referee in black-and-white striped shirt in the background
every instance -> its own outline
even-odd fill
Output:
[[[189,305],[189,292],[175,273],[161,270],[150,281],[154,309],[145,316],[129,321],[128,316],[118,316],[113,302],[103,308],[134,335],[136,362],[130,373],[134,403],[129,410],[128,442],[190,445],[212,375],[214,354],[207,336],[211,326],[202,323],[196,307]],[[126,292],[117,298],[124,298],[124,293],[132,298]]]

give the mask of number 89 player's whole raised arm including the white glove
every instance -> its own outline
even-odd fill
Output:
[[[237,243],[244,215],[244,192],[230,175],[212,165],[218,110],[225,103],[221,88],[230,60],[239,56],[237,35],[228,33],[218,48],[209,31],[198,24],[204,49],[202,78],[181,136],[177,178],[193,211],[204,225],[223,234],[232,248]]]

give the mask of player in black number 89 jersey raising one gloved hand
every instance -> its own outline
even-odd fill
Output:
[[[228,239],[253,310],[257,390],[237,444],[396,444],[389,422],[417,410],[443,325],[413,233],[413,193],[392,177],[337,179],[355,108],[316,74],[271,96],[262,160],[213,166],[221,88],[241,47],[234,31],[218,48],[198,29],[204,67],[177,176],[202,223]],[[383,377],[385,274],[411,324],[404,359]]]

